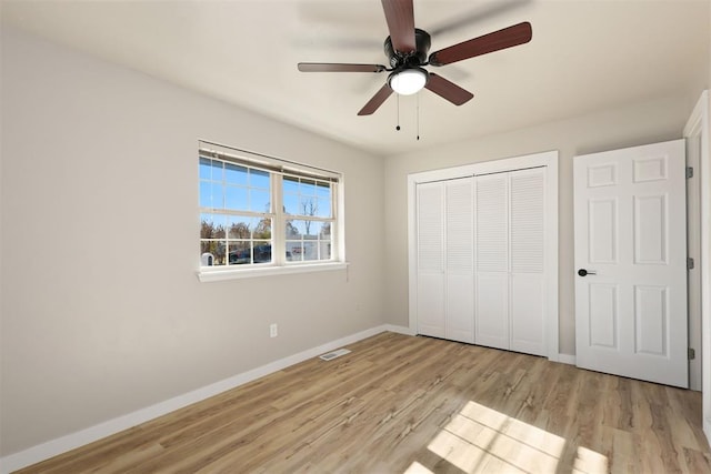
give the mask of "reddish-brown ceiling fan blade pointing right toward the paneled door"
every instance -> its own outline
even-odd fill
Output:
[[[523,23],[435,51],[430,54],[429,62],[432,65],[451,64],[452,62],[528,43],[531,41],[531,23],[524,21]]]

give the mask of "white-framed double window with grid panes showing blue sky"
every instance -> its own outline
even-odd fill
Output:
[[[201,142],[201,271],[333,263],[340,174]]]

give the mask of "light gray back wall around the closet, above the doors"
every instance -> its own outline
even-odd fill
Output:
[[[699,90],[618,110],[479,137],[447,147],[388,157],[385,161],[385,314],[408,325],[409,173],[559,150],[559,312],[560,353],[575,353],[573,288],[572,158],[624,147],[679,139]]]

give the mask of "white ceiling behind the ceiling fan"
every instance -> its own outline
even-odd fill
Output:
[[[698,93],[709,68],[709,0],[414,0],[430,51],[521,21],[533,39],[430,67],[474,99],[402,97],[398,132],[395,94],[357,117],[387,73],[297,71],[387,63],[379,0],[1,1],[3,22],[378,154]]]

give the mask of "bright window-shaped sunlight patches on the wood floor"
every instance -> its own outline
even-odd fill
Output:
[[[564,448],[564,438],[471,401],[428,445],[465,473],[555,473]],[[581,446],[570,467],[575,473],[607,473],[608,458]],[[431,472],[418,462],[405,471]]]

